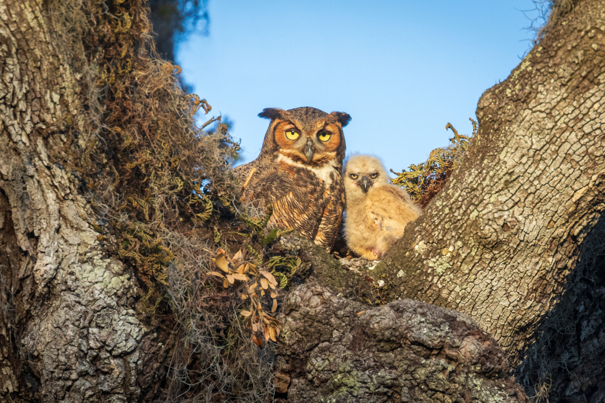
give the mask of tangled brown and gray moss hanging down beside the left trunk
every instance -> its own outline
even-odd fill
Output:
[[[264,278],[275,275],[274,286],[286,286],[299,262],[267,254],[263,245],[280,234],[267,239],[266,220],[235,218],[229,162],[238,144],[220,117],[196,126],[211,106],[184,93],[180,67],[157,57],[145,1],[68,0],[51,12],[57,40],[82,72],[87,111],[60,122],[71,143],[55,157],[80,180],[100,244],[139,280],[137,307],[149,313],[149,326],[171,329],[159,397],[264,401],[272,395],[273,347],[252,343],[240,315],[243,287],[224,287],[211,274],[212,259],[219,248],[250,251],[243,260]],[[217,129],[204,131],[212,122]],[[276,300],[258,298],[258,309],[270,312],[267,299]]]

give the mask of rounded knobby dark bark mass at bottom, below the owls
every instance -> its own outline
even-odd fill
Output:
[[[279,318],[287,402],[528,402],[494,339],[462,313],[413,300],[367,307],[309,283]]]

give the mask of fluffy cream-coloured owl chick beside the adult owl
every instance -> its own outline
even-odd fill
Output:
[[[347,210],[344,235],[347,245],[368,260],[377,260],[420,215],[410,195],[388,183],[380,160],[372,156],[348,157],[344,169]]]

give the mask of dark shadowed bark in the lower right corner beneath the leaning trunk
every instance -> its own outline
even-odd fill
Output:
[[[515,370],[536,403],[598,403],[605,396],[605,215],[586,237],[560,301]]]

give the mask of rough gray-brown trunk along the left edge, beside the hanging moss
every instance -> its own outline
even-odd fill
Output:
[[[0,400],[133,401],[162,346],[57,159],[62,122],[82,129],[85,116],[50,25],[42,1],[0,3]]]

